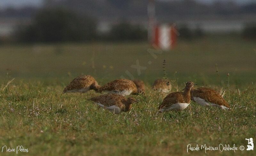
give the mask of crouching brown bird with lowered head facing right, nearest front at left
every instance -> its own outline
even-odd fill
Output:
[[[132,97],[126,99],[122,95],[117,94],[103,94],[98,97],[92,97],[90,100],[114,114],[127,112],[132,108],[132,103],[138,102]]]

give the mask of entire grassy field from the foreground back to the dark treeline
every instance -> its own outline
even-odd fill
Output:
[[[2,152],[4,145],[28,148],[28,153],[19,155],[255,155],[255,148],[246,151],[245,140],[256,140],[255,49],[252,41],[214,36],[180,41],[175,50],[153,56],[146,43],[4,45],[0,155],[16,155]],[[231,110],[191,102],[183,112],[156,114],[165,95],[150,85],[164,76],[164,59],[169,79],[178,81],[172,91],[183,89],[186,81],[222,89]],[[136,60],[147,68],[141,74],[131,67]],[[133,96],[140,102],[130,112],[113,115],[98,109],[87,100],[100,95],[94,91],[61,94],[79,74],[91,74],[102,85],[121,76],[130,78],[126,73],[147,84],[145,96]],[[187,153],[188,144],[200,148],[235,144],[238,149]]]

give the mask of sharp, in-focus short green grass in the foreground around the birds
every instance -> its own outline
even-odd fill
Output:
[[[240,88],[240,94],[232,86],[230,97],[225,96],[232,105],[229,111],[192,102],[183,112],[156,114],[164,96],[148,89],[146,97],[134,96],[140,102],[131,112],[120,115],[87,101],[99,95],[94,91],[61,94],[62,89],[58,83],[20,81],[1,91],[0,145],[23,145],[29,155],[180,155],[187,153],[187,144],[239,147],[246,146],[245,138],[256,136],[255,85]],[[252,153],[236,151],[239,155]]]

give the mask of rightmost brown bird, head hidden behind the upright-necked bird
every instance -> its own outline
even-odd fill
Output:
[[[217,106],[221,109],[228,109],[230,105],[228,102],[216,91],[209,88],[191,89],[191,100],[199,105],[204,106]]]

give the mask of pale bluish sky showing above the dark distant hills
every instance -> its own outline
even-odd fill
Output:
[[[162,0],[162,1],[168,1],[168,0]],[[197,0],[204,3],[210,3],[215,0]],[[256,2],[256,0],[234,0],[238,4],[243,4],[247,2]],[[19,7],[24,5],[33,5],[33,6],[40,6],[42,4],[43,0],[0,0],[0,8],[6,7],[6,6],[12,6],[12,7]]]

